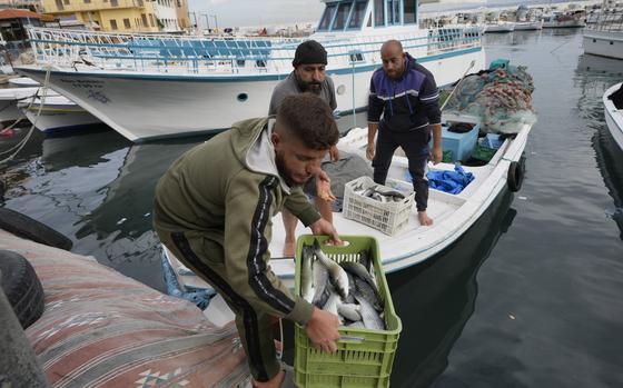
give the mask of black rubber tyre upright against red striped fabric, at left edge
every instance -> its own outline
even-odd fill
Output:
[[[0,250],[0,282],[23,329],[43,314],[43,286],[23,256]]]

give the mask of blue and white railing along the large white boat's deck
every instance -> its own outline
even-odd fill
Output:
[[[289,72],[296,39],[206,39],[179,36],[130,36],[30,28],[38,63],[93,67],[102,70],[170,73]],[[442,28],[400,38],[416,58],[481,46],[481,33],[469,28]],[[379,61],[386,36],[323,40],[332,67],[356,67]]]

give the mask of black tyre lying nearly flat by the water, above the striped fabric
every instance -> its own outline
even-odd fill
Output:
[[[70,239],[47,225],[7,208],[0,208],[0,229],[49,247],[70,250],[73,246]]]

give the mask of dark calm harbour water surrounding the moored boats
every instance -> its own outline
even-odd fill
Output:
[[[534,77],[526,179],[444,252],[388,276],[404,326],[392,387],[622,387],[623,151],[601,99],[623,80],[623,61],[584,56],[581,30],[487,34],[484,46],[487,60]],[[0,139],[0,151],[24,131]],[[1,206],[164,290],[154,188],[205,140],[36,132],[2,170]]]

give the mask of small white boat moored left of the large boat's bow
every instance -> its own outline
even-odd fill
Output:
[[[18,102],[28,120],[44,133],[102,126],[100,119],[63,96],[47,96],[40,106],[41,98]]]

